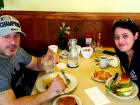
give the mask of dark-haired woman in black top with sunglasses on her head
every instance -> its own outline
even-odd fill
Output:
[[[127,75],[140,89],[140,38],[138,27],[130,19],[120,19],[114,22],[112,32],[116,54]],[[140,92],[138,96],[140,97]]]

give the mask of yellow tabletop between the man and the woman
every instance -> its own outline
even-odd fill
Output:
[[[111,47],[104,47],[103,50],[114,51],[114,49]],[[58,51],[58,54],[60,54],[60,52],[61,51]],[[100,55],[98,55],[98,56],[109,56],[110,57],[112,55],[100,53]],[[64,69],[65,73],[68,73],[77,79],[76,88],[67,94],[79,97],[79,99],[82,102],[82,105],[98,105],[98,104],[94,103],[94,101],[85,92],[85,90],[88,90],[91,88],[96,88],[96,89],[100,90],[100,92],[109,100],[109,102],[106,103],[106,105],[140,105],[140,100],[137,96],[128,101],[121,101],[121,100],[116,99],[115,97],[113,97],[106,91],[105,82],[96,81],[91,77],[92,72],[94,72],[95,70],[109,71],[113,75],[115,75],[116,73],[122,74],[120,65],[118,65],[117,67],[108,66],[106,69],[102,69],[99,67],[99,62],[97,62],[95,58],[96,58],[95,53],[93,53],[91,58],[89,58],[89,59],[84,59],[82,57],[82,55],[80,54],[79,58],[78,58],[78,63],[79,63],[78,67],[76,67],[76,68],[66,67]],[[59,62],[67,64],[67,59],[59,58]],[[54,72],[60,72],[60,69],[55,66]],[[46,75],[46,73],[41,72],[39,74],[39,76],[37,77],[37,80],[43,75]],[[36,88],[36,85],[34,85],[31,95],[35,95],[37,93],[39,93],[39,91]],[[98,96],[98,94],[97,94],[97,96]],[[100,99],[100,97],[98,97],[98,99]],[[55,98],[51,99],[48,102],[45,102],[42,105],[53,105],[52,103],[54,100],[55,100]]]

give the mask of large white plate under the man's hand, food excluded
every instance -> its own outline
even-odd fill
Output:
[[[38,90],[39,92],[45,91],[46,89],[45,89],[45,87],[43,86],[43,80],[47,80],[47,79],[50,79],[50,78],[54,78],[54,77],[56,77],[58,74],[64,79],[63,75],[62,75],[60,72],[50,73],[50,74],[46,74],[46,75],[41,76],[41,77],[36,81],[36,84],[35,84],[37,90]],[[71,82],[68,84],[67,88],[66,88],[66,89],[64,90],[64,92],[62,92],[61,94],[69,93],[69,92],[73,91],[73,90],[76,88],[76,86],[77,86],[77,79],[76,79],[74,76],[72,76],[72,75],[70,75],[70,74],[68,74],[68,73],[65,73],[65,74],[66,74],[66,76],[70,79]],[[64,81],[65,81],[65,79],[64,79]]]

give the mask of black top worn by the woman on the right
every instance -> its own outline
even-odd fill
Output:
[[[134,54],[130,65],[126,53],[122,53],[116,49],[116,54],[119,57],[120,62],[125,69],[125,72],[131,77],[132,81],[137,84],[140,90],[140,49],[134,49]],[[138,96],[140,97],[140,92]]]

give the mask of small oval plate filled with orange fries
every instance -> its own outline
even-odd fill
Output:
[[[91,78],[98,82],[106,82],[110,77],[112,77],[112,73],[105,70],[95,70],[91,73]]]

